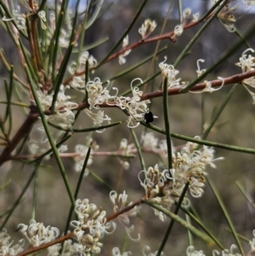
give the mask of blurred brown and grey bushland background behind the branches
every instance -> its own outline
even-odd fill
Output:
[[[178,9],[177,1],[172,1],[173,6],[167,20],[167,26],[165,32],[173,31],[178,21]],[[240,3],[241,1],[235,1]],[[71,6],[75,2],[71,2]],[[105,6],[109,2],[105,1]],[[192,3],[190,1],[183,1],[184,7],[188,7],[192,14],[199,11],[200,14],[204,14],[207,11],[209,1],[195,0]],[[99,20],[96,21],[94,26],[90,27],[86,31],[84,39],[84,45],[94,43],[102,37],[108,37],[108,41],[100,45],[98,48],[89,50],[90,54],[93,54],[96,60],[102,60],[105,54],[116,43],[123,31],[133,20],[133,16],[139,8],[140,2],[135,0],[129,1],[115,1],[111,9],[107,13],[103,14]],[[140,39],[138,33],[139,26],[144,22],[144,19],[150,18],[156,20],[157,27],[153,35],[160,34],[161,26],[167,13],[169,1],[157,0],[149,1],[145,9],[143,10],[139,21],[133,27],[133,30],[129,34],[129,43],[134,43]],[[236,23],[235,26],[241,33],[246,29],[254,20],[254,14],[252,10],[244,9],[243,12],[237,12],[235,14]],[[172,63],[178,57],[178,54],[184,49],[190,39],[194,37],[195,32],[202,26],[195,26],[189,30],[184,31],[181,37],[177,37],[176,43],[170,41],[162,41],[160,48],[167,46],[167,49],[157,56],[155,68],[158,70],[158,63],[164,60],[164,56],[167,56],[167,63]],[[13,43],[8,37],[8,33],[4,31],[3,27],[0,29],[1,48],[4,49],[5,55],[10,63],[14,63],[14,70],[16,73],[24,76],[24,71],[18,60],[18,53]],[[198,39],[195,45],[191,48],[190,54],[181,61],[177,69],[179,71],[178,77],[182,78],[182,81],[191,81],[196,77],[195,70],[196,60],[204,59],[205,63],[201,64],[201,68],[207,68],[209,65],[218,59],[218,57],[224,53],[237,39],[235,33],[229,33],[224,26],[218,21],[212,21],[212,24]],[[249,43],[254,46],[255,37],[252,37]],[[117,73],[121,72],[128,66],[136,64],[139,60],[143,60],[146,56],[153,54],[156,47],[156,43],[146,44],[142,47],[135,48],[127,56],[127,63],[125,65],[119,65],[117,60],[113,60],[110,63],[104,65],[99,71],[94,73],[94,77],[100,77],[101,80],[109,79]],[[241,73],[241,69],[235,66],[235,62],[239,61],[241,53],[246,49],[243,45],[238,51],[232,55],[229,60],[226,60],[223,65],[219,66],[217,70],[213,71],[207,80],[216,79],[217,77],[228,77],[236,73]],[[130,88],[130,82],[140,77],[145,79],[148,75],[150,62],[139,67],[138,69],[128,73],[126,76],[118,79],[114,82],[113,86],[117,87],[120,92]],[[4,66],[0,65],[0,100],[4,100],[4,85],[3,78],[8,77],[8,72]],[[155,89],[159,88],[161,83],[161,77],[157,77],[154,82]],[[152,82],[147,85],[146,91],[150,91]],[[232,85],[227,85],[220,91],[213,94],[204,94],[205,100],[205,121],[206,124],[210,122],[212,113],[223,102],[226,94]],[[74,97],[78,97],[75,91],[69,91],[69,94]],[[25,96],[25,95],[23,95]],[[24,97],[24,100],[29,103]],[[77,102],[81,100],[77,98]],[[5,111],[4,105],[0,107],[1,115]],[[119,120],[126,120],[126,116],[120,110],[108,110],[105,109],[106,114],[109,114],[112,122]],[[158,118],[155,120],[155,125],[164,128],[162,99],[157,98],[152,100],[150,111],[153,112]],[[208,140],[229,144],[240,145],[243,147],[254,148],[254,136],[255,136],[255,122],[254,122],[255,106],[252,105],[252,99],[246,90],[240,85],[235,89],[229,104],[225,107],[224,112],[219,117],[217,125],[212,128],[212,132],[208,136]],[[171,131],[177,134],[184,134],[188,136],[201,135],[201,94],[180,94],[169,97],[169,114]],[[25,120],[25,113],[20,107],[14,107],[14,129],[13,134],[20,127],[20,124]],[[206,125],[205,124],[205,125]],[[91,122],[86,117],[85,113],[82,113],[76,124],[77,127],[87,128],[91,125]],[[138,137],[144,131],[144,127],[139,126],[135,128],[135,132]],[[88,134],[90,135],[90,134]],[[31,138],[37,137],[36,131],[31,134]],[[77,144],[87,143],[87,134],[74,134],[68,142],[69,151],[74,151],[74,146]],[[164,139],[162,134],[156,134],[159,139]],[[124,122],[121,126],[109,128],[105,130],[103,134],[94,133],[92,138],[100,146],[99,151],[116,151],[119,147],[119,143],[122,138],[128,139],[130,143],[133,143],[132,136],[130,135],[127,124]],[[184,145],[184,141],[173,139],[173,145]],[[25,150],[27,153],[27,149]],[[229,210],[230,216],[235,224],[236,230],[243,236],[252,239],[252,230],[255,228],[255,210],[246,198],[241,194],[235,181],[240,181],[241,185],[245,187],[246,196],[249,197],[251,202],[254,202],[255,197],[255,172],[254,163],[255,156],[249,154],[243,154],[235,151],[225,151],[216,149],[216,157],[224,156],[225,160],[217,162],[217,169],[208,169],[209,175],[217,185],[220,195],[223,197],[226,208]],[[146,167],[154,166],[158,159],[153,155],[144,154]],[[71,159],[64,159],[65,168],[73,190],[77,183],[79,174],[74,171],[74,162]],[[99,175],[101,179],[104,179],[111,187],[116,189],[118,179],[121,179],[121,185],[119,192],[126,191],[128,199],[136,201],[143,195],[143,189],[139,185],[139,179],[137,175],[141,170],[138,156],[131,160],[130,168],[128,170],[122,170],[121,165],[115,157],[94,156],[94,162],[89,167],[91,171]],[[9,185],[1,191],[0,196],[0,208],[1,212],[5,212],[12,206],[12,203],[20,195],[20,191],[26,184],[28,177],[31,175],[33,168],[22,162],[7,162],[1,167],[1,184],[4,184],[8,180]],[[112,212],[112,205],[109,200],[109,188],[100,184],[97,180],[89,175],[84,178],[82,190],[79,198],[88,197],[90,202],[96,203],[98,206],[105,208],[107,213]],[[31,219],[31,200],[32,200],[33,186],[26,192],[24,200],[20,203],[20,206],[16,208],[13,216],[9,219],[6,228],[8,233],[13,234],[14,237],[20,237],[14,230],[20,223],[27,224]],[[52,157],[48,162],[44,162],[44,168],[39,170],[39,187],[38,187],[38,202],[37,202],[37,221],[43,222],[44,225],[53,225],[59,228],[60,231],[65,229],[65,222],[67,214],[70,208],[70,200],[65,191],[65,185],[61,179],[58,168],[56,168],[56,162]],[[195,209],[201,219],[205,222],[207,227],[212,230],[212,233],[218,237],[218,240],[224,243],[224,247],[229,248],[234,243],[233,236],[229,233],[227,228],[224,214],[218,206],[218,202],[212,195],[212,191],[208,186],[205,188],[204,195],[199,199],[190,197],[191,202],[194,204]],[[127,237],[122,227],[119,225],[120,231],[116,231],[112,237],[105,237],[104,244],[108,249],[102,251],[102,255],[110,255],[111,247],[126,245],[127,250],[131,250],[134,255],[139,255],[137,252],[141,252],[141,248],[144,245],[150,245],[152,251],[156,251],[159,247],[162,237],[165,234],[167,225],[161,223],[159,219],[154,216],[153,210],[148,206],[143,206],[141,209],[141,218],[133,218],[133,224],[136,229],[133,237],[137,237],[137,233],[141,234],[141,241],[139,243],[127,242]],[[184,217],[184,213],[180,213]],[[4,219],[4,218],[3,218]],[[168,224],[168,220],[167,220]],[[122,230],[121,230],[122,229]],[[127,244],[126,244],[127,242]],[[107,246],[106,246],[107,245]],[[172,235],[169,237],[167,246],[164,249],[167,255],[185,255],[185,248],[188,246],[188,238],[186,230],[178,225],[174,225]],[[120,246],[121,247],[121,246]],[[246,249],[248,245],[246,244]],[[198,239],[195,239],[195,248],[204,250],[207,255],[211,254],[213,248],[217,248],[213,245],[205,245]],[[248,249],[247,249],[248,250]],[[246,250],[246,251],[247,251]],[[171,253],[168,253],[171,252]]]

